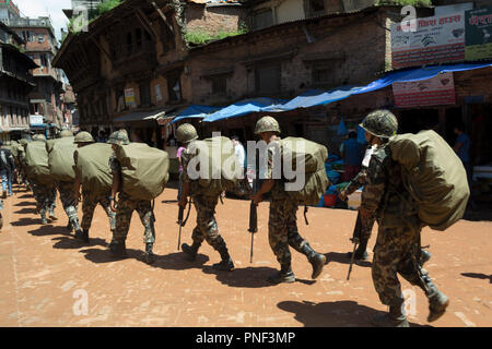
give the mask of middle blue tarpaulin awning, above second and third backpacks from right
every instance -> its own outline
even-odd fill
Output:
[[[203,119],[206,122],[212,122],[229,118],[241,117],[250,112],[263,111],[267,107],[276,107],[284,104],[285,100],[272,98],[249,98],[236,101],[235,104],[222,108]]]

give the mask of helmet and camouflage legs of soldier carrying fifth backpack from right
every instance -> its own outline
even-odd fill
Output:
[[[94,143],[93,136],[85,131],[79,132],[75,136],[74,143],[78,144],[78,147],[83,147],[85,145]],[[80,178],[75,178],[75,200],[79,201],[80,198]],[[94,209],[96,208],[97,204],[99,204],[104,210],[106,212],[107,217],[109,218],[109,227],[110,230],[114,231],[116,228],[116,218],[115,213],[110,208],[110,201],[109,201],[110,192],[94,195],[91,193],[91,191],[86,190],[82,185],[82,222],[81,222],[81,230],[75,230],[75,238],[89,242],[89,229],[91,228],[92,218],[94,217]]]

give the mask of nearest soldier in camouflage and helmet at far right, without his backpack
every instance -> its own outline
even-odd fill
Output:
[[[393,160],[388,139],[396,134],[397,120],[388,110],[370,113],[361,127],[371,145],[377,144],[367,168],[366,185],[362,192],[361,218],[377,219],[379,229],[374,248],[372,276],[383,304],[389,313],[376,315],[376,326],[408,327],[405,299],[397,273],[411,285],[419,286],[429,298],[429,322],[440,318],[449,303],[437,290],[420,260],[420,233],[423,222],[418,206],[402,183],[401,167]]]

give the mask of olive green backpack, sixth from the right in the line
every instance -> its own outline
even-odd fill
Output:
[[[71,182],[75,180],[73,154],[77,151],[74,137],[58,139],[46,148],[48,151],[48,166],[56,181]]]

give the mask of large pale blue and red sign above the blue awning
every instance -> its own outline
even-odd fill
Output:
[[[465,13],[415,20],[410,31],[391,25],[393,69],[465,60]]]

